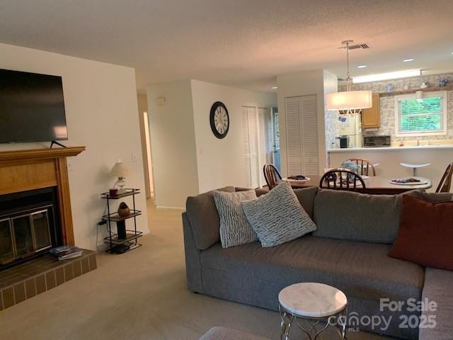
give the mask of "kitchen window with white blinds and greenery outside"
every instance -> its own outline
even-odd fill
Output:
[[[447,91],[395,96],[395,135],[447,135]]]

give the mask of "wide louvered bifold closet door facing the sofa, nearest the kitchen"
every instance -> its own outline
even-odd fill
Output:
[[[318,175],[316,95],[285,98],[288,175]]]

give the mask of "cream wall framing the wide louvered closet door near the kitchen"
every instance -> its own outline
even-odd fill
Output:
[[[326,167],[326,131],[324,113],[324,77],[328,72],[316,69],[304,72],[294,72],[277,76],[278,113],[280,123],[280,150],[282,163],[282,176],[287,176],[287,135],[285,98],[296,96],[308,96],[316,94],[318,100],[318,146],[319,146],[319,169],[322,172]]]

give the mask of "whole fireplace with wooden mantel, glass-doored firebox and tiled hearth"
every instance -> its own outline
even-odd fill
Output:
[[[84,149],[0,152],[0,310],[96,268],[93,251],[49,254],[74,245],[67,157]]]

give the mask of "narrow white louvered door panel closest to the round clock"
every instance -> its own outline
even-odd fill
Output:
[[[242,130],[243,151],[246,162],[248,186],[257,188],[258,183],[258,140],[257,140],[256,108],[243,106]]]

